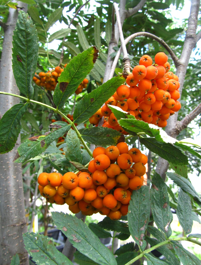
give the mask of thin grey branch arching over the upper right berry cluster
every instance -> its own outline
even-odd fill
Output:
[[[136,37],[140,37],[140,36],[145,36],[145,37],[154,39],[155,41],[158,41],[169,52],[172,60],[174,61],[175,66],[177,67],[178,65],[180,65],[180,60],[177,58],[177,56],[174,54],[173,50],[168,46],[168,44],[166,42],[164,42],[163,39],[155,36],[154,34],[151,34],[151,33],[148,33],[148,32],[134,33],[134,34],[130,35],[128,38],[125,39],[125,45],[129,41],[131,41],[132,39],[134,39]],[[118,62],[119,57],[121,55],[121,51],[122,51],[122,48],[120,47],[119,51],[117,52],[117,55],[115,56],[115,59],[113,61],[112,68],[111,68],[110,75],[109,75],[109,79],[111,79],[113,77],[117,62]]]

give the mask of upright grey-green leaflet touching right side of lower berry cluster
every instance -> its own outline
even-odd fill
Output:
[[[129,231],[139,248],[143,251],[146,247],[145,233],[150,216],[150,193],[149,187],[142,186],[133,191],[128,206]]]

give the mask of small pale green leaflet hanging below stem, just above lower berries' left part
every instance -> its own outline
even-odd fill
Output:
[[[80,147],[80,140],[77,137],[76,132],[73,129],[68,131],[66,136],[67,144],[67,155],[71,161],[78,162],[82,164],[82,153]]]

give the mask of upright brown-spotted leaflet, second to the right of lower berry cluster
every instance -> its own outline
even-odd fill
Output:
[[[173,215],[169,206],[167,185],[156,172],[154,173],[151,183],[151,210],[154,222],[157,227],[164,232],[167,238],[169,238],[172,235],[170,224],[173,220]]]

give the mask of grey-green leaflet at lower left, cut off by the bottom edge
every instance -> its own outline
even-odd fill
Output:
[[[57,250],[49,237],[31,233],[23,234],[25,249],[36,264],[40,265],[73,265],[73,263]]]

